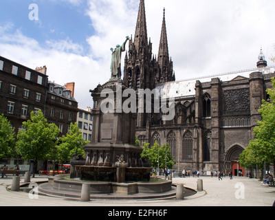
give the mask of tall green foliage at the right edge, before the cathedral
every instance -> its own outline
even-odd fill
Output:
[[[272,78],[275,88],[275,79]],[[275,161],[275,90],[267,89],[270,101],[263,100],[261,109],[262,120],[254,127],[255,139],[250,141],[249,146],[241,154],[241,165],[248,167],[253,164],[262,166],[263,162]]]

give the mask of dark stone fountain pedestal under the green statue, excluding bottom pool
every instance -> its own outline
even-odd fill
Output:
[[[143,181],[150,179],[151,164],[135,146],[137,113],[124,113],[120,79],[111,79],[91,91],[94,99],[92,141],[84,146],[85,158],[72,159],[71,178],[92,181]],[[110,109],[103,112],[103,108]]]

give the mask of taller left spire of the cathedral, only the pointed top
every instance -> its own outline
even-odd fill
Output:
[[[137,48],[148,45],[144,0],[140,0],[140,9],[138,10],[134,43],[135,43],[135,47]]]

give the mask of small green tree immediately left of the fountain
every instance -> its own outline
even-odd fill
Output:
[[[72,159],[74,155],[83,155],[84,157],[83,146],[89,143],[83,139],[77,123],[71,123],[69,132],[59,138],[59,142],[61,144],[57,147],[57,157],[61,164]]]

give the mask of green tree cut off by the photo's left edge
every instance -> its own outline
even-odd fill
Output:
[[[0,115],[0,158],[14,157],[15,133],[8,118]]]

